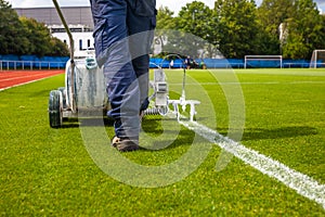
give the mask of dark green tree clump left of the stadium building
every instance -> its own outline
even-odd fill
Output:
[[[44,24],[18,17],[6,1],[0,0],[0,53],[68,55],[68,49],[51,36]]]

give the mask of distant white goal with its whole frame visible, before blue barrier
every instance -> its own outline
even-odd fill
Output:
[[[283,67],[282,55],[245,55],[244,68],[247,67]]]

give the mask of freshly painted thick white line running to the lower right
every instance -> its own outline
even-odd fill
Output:
[[[180,124],[195,131],[208,141],[218,144],[221,149],[232,153],[262,174],[275,178],[290,189],[296,190],[300,195],[315,201],[325,209],[325,184],[320,184],[311,177],[290,169],[286,165],[265,155],[262,155],[257,151],[250,150],[239,142],[235,142],[227,137],[223,137],[219,132],[209,129],[204,125],[200,125],[198,123],[191,123],[187,120],[180,120]]]

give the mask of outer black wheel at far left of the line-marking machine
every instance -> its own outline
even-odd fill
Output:
[[[60,90],[52,90],[50,92],[49,118],[50,118],[51,127],[57,128],[62,126],[63,102],[62,102],[62,92]]]

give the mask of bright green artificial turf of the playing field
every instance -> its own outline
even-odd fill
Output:
[[[170,98],[178,99],[182,71],[166,74]],[[235,104],[232,101],[243,94],[245,129],[240,143],[325,183],[324,69],[220,69],[186,74],[186,98],[202,101],[197,122],[227,135],[232,130],[230,103]],[[0,92],[1,216],[325,215],[320,204],[238,158],[216,171],[221,153],[217,145],[212,145],[197,169],[169,186],[139,188],[115,180],[91,158],[78,123],[66,122],[63,128],[50,128],[49,92],[62,86],[64,75]],[[227,95],[232,90],[236,90],[238,98]],[[106,124],[105,131],[112,137],[112,123]],[[157,150],[122,153],[136,164],[168,165],[188,152],[195,142],[203,149],[210,145],[174,119],[147,116],[142,126],[142,145]],[[109,141],[103,145],[112,152]]]

